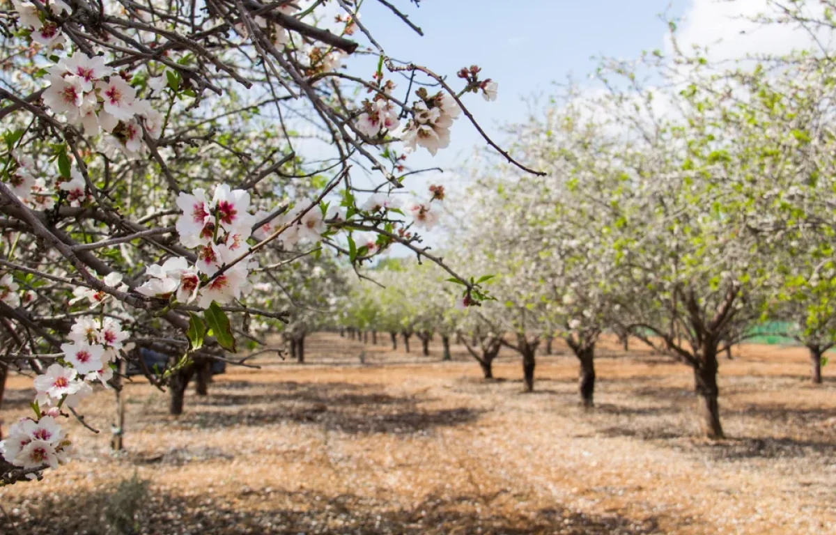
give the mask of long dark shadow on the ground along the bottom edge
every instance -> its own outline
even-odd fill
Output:
[[[112,485],[115,488],[116,485]],[[28,535],[105,535],[103,511],[115,492],[76,492],[49,495],[18,508],[14,527],[3,532]],[[200,532],[203,535],[298,533],[363,533],[364,535],[482,533],[484,535],[649,535],[659,533],[659,521],[634,521],[618,515],[594,517],[553,507],[503,514],[492,507],[496,497],[459,495],[428,497],[411,507],[351,493],[325,495],[313,491],[284,492],[242,487],[234,497],[182,497],[151,489],[137,504],[135,531],[143,533]],[[117,500],[118,501],[118,500]],[[124,502],[124,500],[122,500]],[[112,507],[112,506],[110,506]],[[507,510],[508,508],[502,508]],[[513,510],[513,507],[510,507]]]

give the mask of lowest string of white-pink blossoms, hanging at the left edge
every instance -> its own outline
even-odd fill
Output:
[[[55,468],[67,462],[70,442],[56,420],[61,407],[74,408],[92,394],[92,381],[107,386],[113,377],[112,363],[120,351],[130,350],[127,338],[114,318],[77,319],[69,333],[71,342],[61,345],[63,355],[58,362],[35,377],[36,417],[13,424],[8,438],[0,442],[3,459],[24,469]],[[42,410],[48,405],[53,406]]]

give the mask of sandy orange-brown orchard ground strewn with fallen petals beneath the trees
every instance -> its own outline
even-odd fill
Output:
[[[437,343],[424,357],[416,339],[410,354],[380,342],[314,335],[308,364],[232,369],[177,418],[138,380],[119,456],[113,394],[97,392],[83,409],[102,432],[69,425],[69,466],[0,489],[0,533],[104,532],[99,504],[134,473],[150,480],[136,527],[154,535],[836,533],[836,374],[810,385],[801,349],[721,362],[730,438],[709,442],[690,370],[644,350],[603,344],[583,410],[563,347],[523,394],[513,354],[486,382],[461,346],[440,362]],[[30,378],[9,380],[6,425],[31,395]]]

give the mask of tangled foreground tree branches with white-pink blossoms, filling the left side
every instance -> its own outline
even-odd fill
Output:
[[[194,359],[246,364],[225,354],[271,329],[304,332],[344,292],[340,263],[400,243],[473,304],[487,296],[416,245],[443,187],[405,203],[400,189],[418,172],[410,153],[446,148],[461,113],[510,158],[463,102],[496,99],[497,84],[471,67],[456,91],[396,65],[359,3],[338,3],[334,20],[302,0],[13,0],[0,37],[0,338],[3,362],[35,374],[33,415],[0,443],[15,470],[67,461],[62,419],[140,349],[176,362],[154,375],[140,359],[163,387]],[[357,51],[380,56],[368,79],[343,72]],[[389,75],[405,71],[398,99]]]

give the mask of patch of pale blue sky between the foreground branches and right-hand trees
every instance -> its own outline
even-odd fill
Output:
[[[499,83],[499,99],[487,103],[470,94],[466,104],[497,141],[503,124],[528,115],[524,99],[548,95],[553,82],[568,74],[585,79],[595,66],[591,56],[635,58],[642,50],[664,48],[666,27],[658,15],[681,16],[691,7],[691,0],[423,0],[421,8],[406,0],[394,3],[424,30],[423,38],[375,0],[364,2],[361,21],[392,57],[456,82],[461,67],[482,67],[485,77]],[[405,90],[404,84],[398,89]],[[410,156],[410,166],[449,168],[483,146],[464,117],[451,133],[450,148],[435,158],[421,149]]]

